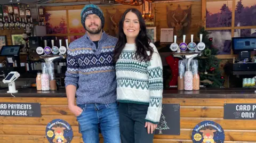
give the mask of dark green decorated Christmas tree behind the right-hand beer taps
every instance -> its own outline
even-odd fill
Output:
[[[213,39],[209,38],[209,31],[202,27],[198,32],[198,38],[200,34],[203,34],[202,42],[206,46],[204,51],[202,51],[202,56],[197,58],[200,81],[206,87],[221,87],[224,78],[221,76],[219,69],[220,60],[215,56],[218,49],[213,47]]]

